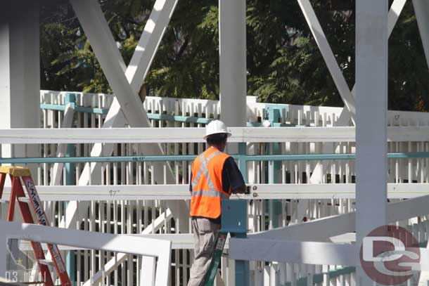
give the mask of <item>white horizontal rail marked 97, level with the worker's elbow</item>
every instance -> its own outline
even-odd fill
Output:
[[[231,195],[231,200],[354,199],[354,183],[251,184],[250,195]],[[37,186],[44,201],[90,200],[190,200],[188,185]],[[4,187],[8,200],[11,187]],[[429,183],[388,183],[390,199],[429,195]]]

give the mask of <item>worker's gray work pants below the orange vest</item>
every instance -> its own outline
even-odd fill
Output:
[[[207,273],[220,225],[209,219],[192,219],[193,239],[195,241],[194,260],[188,286],[202,286]]]

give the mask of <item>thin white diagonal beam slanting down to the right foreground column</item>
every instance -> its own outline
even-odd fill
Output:
[[[356,114],[356,107],[354,103],[354,97],[350,92],[349,86],[345,81],[340,66],[338,65],[337,60],[333,54],[331,46],[329,46],[328,39],[326,39],[324,30],[322,29],[319,20],[317,19],[316,13],[309,0],[297,0],[300,4],[302,13],[304,13],[305,20],[309,25],[310,30],[312,31],[313,37],[316,40],[317,46],[324,57],[325,63],[328,66],[328,70],[331,73],[331,77],[335,86],[337,86],[338,92],[342,98],[342,101],[345,104],[345,108],[350,112],[352,122],[354,122],[354,117]]]

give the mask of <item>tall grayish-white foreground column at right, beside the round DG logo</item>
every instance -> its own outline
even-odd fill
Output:
[[[388,0],[356,1],[356,82],[360,245],[371,230],[387,223]],[[373,285],[361,268],[357,271],[357,285]]]

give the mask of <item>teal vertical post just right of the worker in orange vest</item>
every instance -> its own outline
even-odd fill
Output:
[[[246,143],[238,143],[238,168],[240,168],[241,174],[245,183],[248,183],[248,164],[247,164],[247,145]],[[246,204],[247,206],[247,204]],[[247,207],[243,208],[243,216],[246,221],[247,229],[247,218],[248,212]],[[247,233],[236,233],[236,238],[247,238]],[[236,286],[248,286],[249,284],[249,261],[236,260]]]

